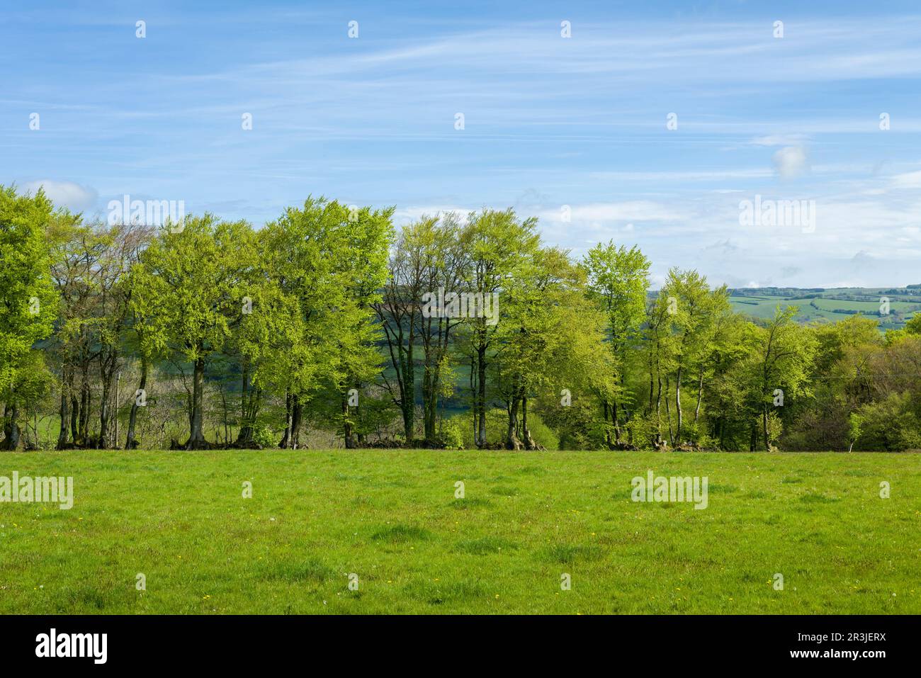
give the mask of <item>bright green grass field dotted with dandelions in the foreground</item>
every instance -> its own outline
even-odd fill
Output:
[[[708,476],[708,507],[632,502],[649,469]],[[916,454],[0,455],[13,471],[74,476],[75,505],[0,503],[6,614],[921,613]]]

